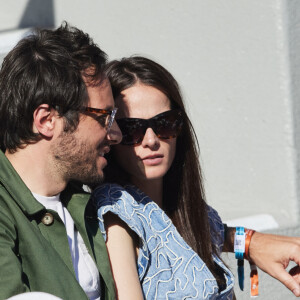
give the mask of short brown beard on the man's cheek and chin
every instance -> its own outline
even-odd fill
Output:
[[[66,181],[79,181],[89,186],[103,182],[97,170],[98,152],[95,146],[79,142],[74,132],[62,132],[52,146],[56,170]]]

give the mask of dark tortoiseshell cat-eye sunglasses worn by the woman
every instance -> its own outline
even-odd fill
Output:
[[[158,138],[171,139],[181,131],[183,124],[182,111],[172,109],[154,116],[151,119],[121,118],[117,123],[122,131],[123,145],[135,145],[143,141],[148,128],[152,128]]]

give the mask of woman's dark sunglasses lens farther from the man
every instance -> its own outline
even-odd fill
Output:
[[[155,133],[161,139],[178,136],[183,124],[182,113],[179,110],[165,112],[153,118],[153,121],[155,122]]]

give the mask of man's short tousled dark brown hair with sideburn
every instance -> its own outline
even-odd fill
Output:
[[[79,111],[88,101],[83,77],[100,80],[106,61],[88,34],[66,22],[22,39],[0,71],[0,147],[14,152],[40,139],[32,125],[41,104],[64,117],[66,131],[76,129]]]

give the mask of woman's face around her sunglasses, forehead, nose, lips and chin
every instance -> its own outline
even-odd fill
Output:
[[[150,119],[171,109],[170,100],[160,90],[136,84],[116,98],[117,118]],[[114,146],[114,158],[135,184],[145,180],[162,180],[176,152],[176,138],[159,139],[151,128],[138,145]]]

